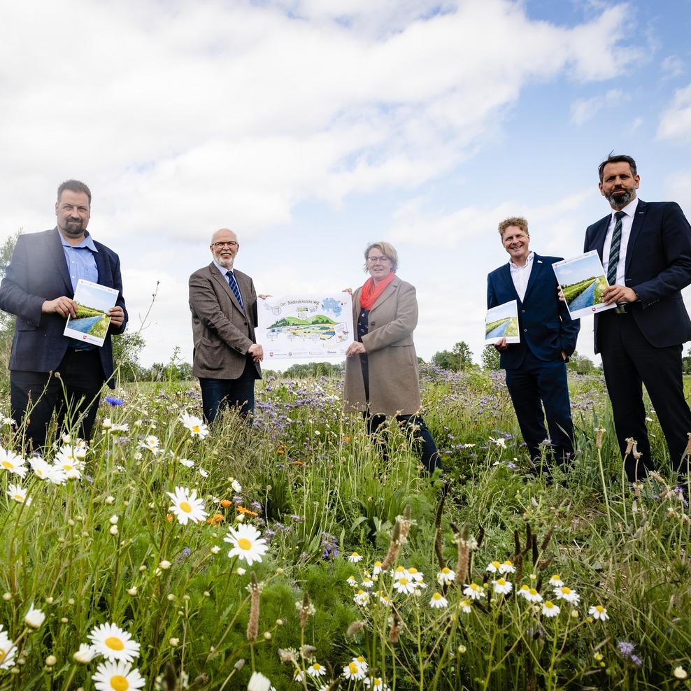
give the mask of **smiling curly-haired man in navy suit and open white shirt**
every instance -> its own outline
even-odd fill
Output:
[[[503,220],[499,235],[511,259],[487,276],[487,308],[517,302],[520,343],[502,338],[494,347],[501,353],[506,386],[531,459],[540,459],[548,439],[546,416],[551,450],[557,463],[564,464],[574,453],[566,362],[576,349],[580,320],[571,320],[557,294],[552,264],[561,258],[529,250],[525,218]]]

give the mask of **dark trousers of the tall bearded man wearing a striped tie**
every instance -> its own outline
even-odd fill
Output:
[[[638,477],[644,476],[646,469],[653,469],[642,383],[646,385],[667,439],[672,465],[682,469],[681,461],[691,432],[691,411],[684,397],[682,346],[651,346],[632,313],[603,312],[598,315],[598,327],[602,369],[612,401],[622,456],[627,438],[635,439],[641,452]],[[636,460],[630,454],[625,470],[629,480],[633,481],[636,478]]]

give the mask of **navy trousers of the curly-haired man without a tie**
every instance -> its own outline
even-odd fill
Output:
[[[518,369],[506,370],[506,386],[532,460],[541,458],[540,445],[550,439],[557,463],[567,462],[574,454],[574,423],[564,361],[545,362],[528,350]]]

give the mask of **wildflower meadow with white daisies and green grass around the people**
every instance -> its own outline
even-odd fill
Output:
[[[43,458],[5,420],[0,690],[690,688],[688,479],[625,483],[597,377],[550,478],[501,373],[421,376],[448,492],[339,378],[211,432],[193,383],[127,385]]]

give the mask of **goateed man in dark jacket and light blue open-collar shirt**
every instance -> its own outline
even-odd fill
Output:
[[[16,316],[10,405],[28,449],[45,445],[56,409],[59,427],[78,425],[78,434],[90,439],[104,381],[114,386],[111,335],[122,334],[127,325],[120,259],[89,234],[90,214],[89,188],[79,180],[62,183],[57,227],[17,238],[0,285],[0,308]],[[67,318],[76,315],[73,297],[80,278],[117,290],[101,348],[63,335]]]

